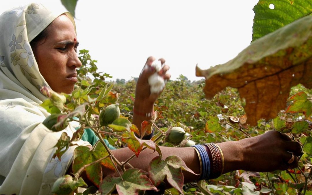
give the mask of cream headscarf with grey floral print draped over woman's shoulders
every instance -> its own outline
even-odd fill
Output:
[[[41,123],[50,115],[39,106],[46,99],[40,88],[48,84],[29,44],[61,14],[31,3],[0,16],[0,194],[49,194],[71,163],[75,147],[61,161],[51,158],[63,131]],[[74,128],[64,131],[71,136]]]

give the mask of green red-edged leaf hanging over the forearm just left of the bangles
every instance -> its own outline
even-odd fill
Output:
[[[155,186],[167,178],[168,183],[183,194],[184,176],[182,169],[195,174],[178,156],[168,156],[165,160],[157,156],[149,163],[149,178]]]

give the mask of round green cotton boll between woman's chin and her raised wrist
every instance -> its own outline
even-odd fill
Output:
[[[100,125],[107,126],[120,116],[120,110],[117,104],[111,104],[100,112]]]

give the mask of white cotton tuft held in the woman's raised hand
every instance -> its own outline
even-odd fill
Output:
[[[160,60],[154,60],[151,67],[154,67],[156,72],[149,77],[149,85],[151,93],[159,93],[163,90],[163,87],[165,86],[165,80],[163,77],[158,75],[158,72],[163,67]],[[148,65],[145,64],[145,68],[148,68]]]

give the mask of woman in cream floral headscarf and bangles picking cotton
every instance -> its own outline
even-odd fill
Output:
[[[65,93],[73,90],[77,82],[76,68],[81,66],[76,54],[75,23],[70,14],[53,14],[42,5],[32,3],[4,12],[0,28],[0,175],[3,182],[0,194],[49,194],[54,181],[69,168],[77,146],[71,146],[61,161],[52,158],[61,133],[71,135],[75,129],[69,125],[61,132],[51,132],[42,124],[49,113],[39,106],[46,99],[40,88],[46,85]],[[147,64],[153,60],[149,57]],[[170,78],[166,74],[168,68],[164,66],[159,73],[164,79]],[[159,95],[149,92],[147,80],[154,72],[151,67],[144,69],[137,82],[133,123],[138,127],[143,120],[150,119]],[[90,146],[82,140],[76,144]],[[203,170],[208,160],[206,154],[212,153],[211,146],[160,148],[163,158],[178,155],[195,173],[200,173],[198,176],[183,172],[185,181],[189,182],[207,176],[207,170]],[[213,146],[216,154],[220,154],[219,157],[223,154],[224,158],[224,165],[212,164],[211,172],[218,168],[216,174],[237,169],[285,170],[295,167],[301,154],[299,143],[276,131]],[[119,161],[133,154],[128,148],[113,150],[113,153]],[[156,155],[146,149],[129,163],[134,168],[147,170]],[[109,174],[103,172],[103,176]]]

